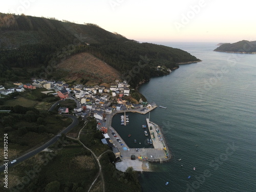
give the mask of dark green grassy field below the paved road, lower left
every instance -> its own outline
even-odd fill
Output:
[[[79,192],[89,189],[98,173],[90,152],[70,140],[57,142],[50,148],[53,152],[41,152],[9,169],[10,190],[45,192],[46,186],[52,181],[60,183],[57,191]],[[22,183],[23,181],[26,183]]]

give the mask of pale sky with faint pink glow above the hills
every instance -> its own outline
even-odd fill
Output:
[[[2,0],[0,12],[93,23],[140,42],[256,40],[254,1]]]

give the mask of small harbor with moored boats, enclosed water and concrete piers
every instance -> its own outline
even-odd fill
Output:
[[[170,159],[160,127],[141,113],[146,114],[152,110],[129,111],[133,113],[116,112],[107,117],[110,127],[108,135],[120,154],[121,161],[116,164],[118,170],[125,172],[129,166],[132,166],[134,170],[150,172],[149,162],[164,162]],[[126,122],[126,117],[129,117],[129,123],[124,126],[120,124],[120,118],[125,119]],[[112,134],[113,132],[116,136]],[[131,157],[135,157],[134,160]]]

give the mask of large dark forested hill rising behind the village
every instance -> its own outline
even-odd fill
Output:
[[[102,59],[133,86],[152,76],[167,74],[167,69],[178,68],[177,63],[200,61],[180,49],[141,44],[94,24],[0,13],[0,82],[17,75],[5,73],[7,70],[47,67],[79,52]]]

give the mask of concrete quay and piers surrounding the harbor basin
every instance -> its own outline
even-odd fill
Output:
[[[125,111],[116,111],[112,114],[109,114],[106,121],[106,126],[109,127],[108,129],[108,135],[110,139],[112,140],[114,146],[118,149],[120,154],[123,156],[121,158],[121,161],[116,163],[116,168],[120,170],[121,172],[125,172],[125,170],[128,167],[133,167],[134,170],[138,172],[152,172],[150,168],[149,162],[165,162],[170,160],[170,153],[168,150],[168,147],[166,145],[164,136],[162,135],[162,131],[160,127],[156,124],[151,122],[148,118],[146,118],[148,130],[150,131],[150,137],[153,140],[153,146],[154,148],[139,148],[140,153],[136,152],[136,148],[130,148],[127,146],[127,144],[123,141],[123,139],[120,137],[118,132],[115,130],[114,127],[112,127],[112,118],[117,113],[126,113],[126,112],[133,112],[133,113],[139,113],[139,114],[146,114],[152,110],[157,108],[157,105],[153,108],[147,108],[147,110],[141,112],[140,109],[137,110],[125,110]],[[150,127],[152,126],[152,130],[150,130]],[[112,135],[112,132],[115,132],[116,135],[122,140],[124,146],[120,146],[120,143],[115,139],[115,137]],[[123,147],[126,147],[123,148]],[[131,155],[135,155],[135,160],[131,160]],[[139,157],[147,157],[146,159],[139,159]],[[117,155],[116,155],[117,157]]]

